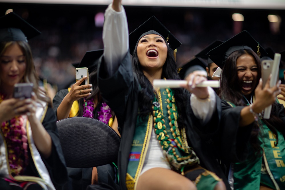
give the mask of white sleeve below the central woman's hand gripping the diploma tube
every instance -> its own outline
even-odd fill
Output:
[[[200,100],[195,94],[190,96],[190,104],[194,115],[202,120],[202,124],[207,123],[216,109],[216,96],[215,91],[208,87],[209,101]]]

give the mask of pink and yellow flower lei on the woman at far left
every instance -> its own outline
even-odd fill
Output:
[[[3,99],[4,96],[0,94],[0,103]],[[22,116],[15,117],[1,124],[1,130],[8,149],[9,165],[13,176],[22,174],[28,165],[27,132],[23,124],[24,119]]]

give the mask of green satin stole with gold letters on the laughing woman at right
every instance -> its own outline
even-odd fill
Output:
[[[228,102],[233,107],[234,104]],[[260,184],[272,189],[284,189],[285,187],[285,140],[279,131],[278,145],[275,146],[276,136],[260,120],[262,126],[258,135],[262,154],[254,155],[254,150],[250,150],[247,160],[241,163],[232,163],[233,186],[234,189],[259,189]]]

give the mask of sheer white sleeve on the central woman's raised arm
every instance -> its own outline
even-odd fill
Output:
[[[109,75],[112,75],[129,49],[129,29],[124,7],[117,12],[112,4],[105,11],[103,26],[104,59]]]

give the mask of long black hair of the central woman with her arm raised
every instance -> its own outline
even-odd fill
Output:
[[[177,64],[174,58],[174,52],[170,48],[165,39],[164,42],[166,43],[167,46],[167,58],[162,67],[161,79],[166,78],[166,79],[180,80],[180,76],[177,73]],[[138,43],[133,52],[132,63],[133,63],[133,70],[137,75],[137,78],[141,85],[141,90],[139,92],[139,115],[146,116],[150,114],[150,112],[152,112],[152,100],[154,99],[155,92],[148,78],[144,76],[143,69],[137,55],[137,46]],[[183,121],[182,118],[184,118],[184,113],[185,113],[182,110],[185,109],[184,102],[186,101],[186,97],[183,95],[182,88],[174,88],[172,90],[174,90],[175,102],[178,109],[178,114],[180,115],[178,123],[181,123]]]

